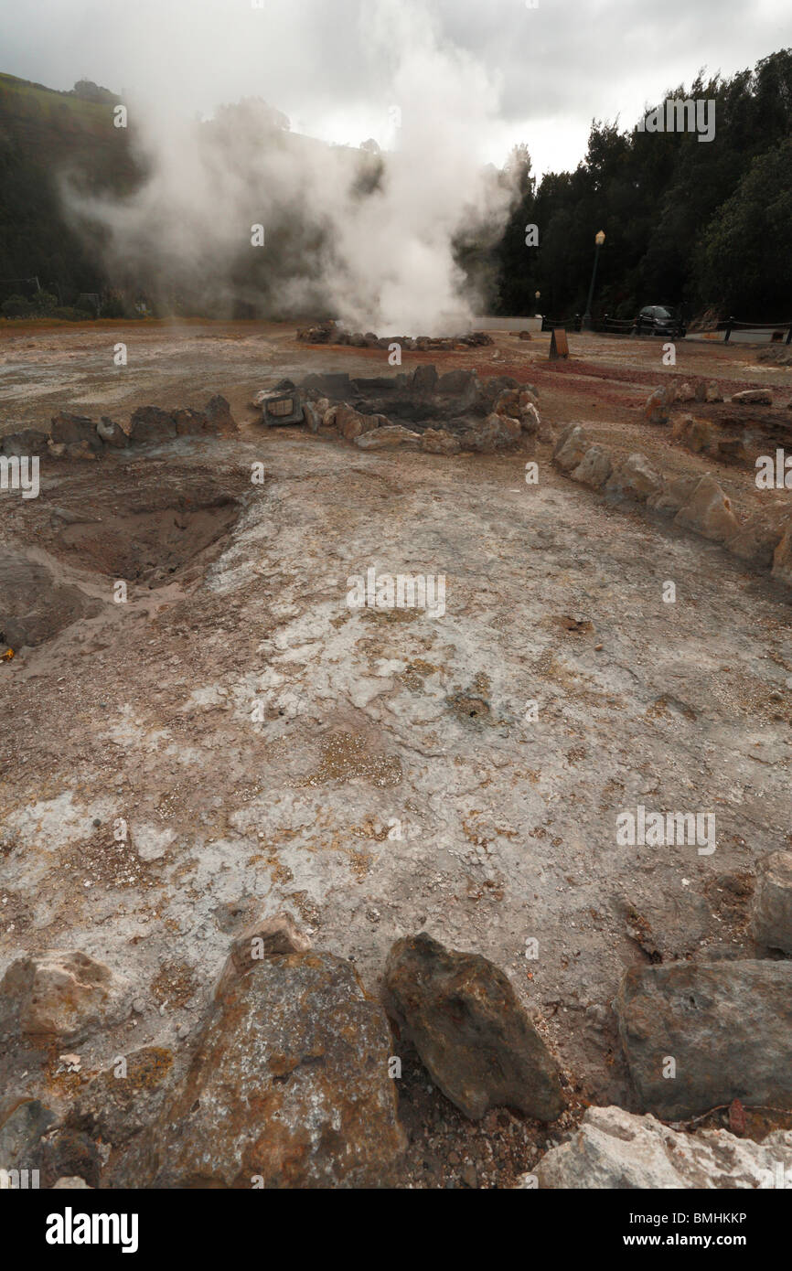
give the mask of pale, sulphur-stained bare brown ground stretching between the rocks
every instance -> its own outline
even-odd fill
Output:
[[[132,1017],[76,1047],[88,1073],[141,1045],[186,1063],[231,935],[262,911],[291,911],[372,995],[394,939],[426,929],[506,971],[573,1111],[629,1107],[610,1005],[624,969],[751,956],[756,866],[791,841],[789,595],[567,480],[547,445],[447,459],[263,431],[247,403],[283,375],[390,372],[386,353],[292,337],[130,325],[0,344],[3,432],[217,391],[240,425],[93,463],[44,458],[38,498],[0,494],[6,561],[86,601],[0,663],[0,972],[79,948],[132,981]],[[561,371],[547,337],[505,334],[404,369],[506,371],[539,386],[552,423],[756,500],[750,473],[641,423],[659,346],[571,344]],[[683,358],[680,374],[789,397],[789,369],[758,367],[745,346],[690,343]],[[371,568],[442,578],[444,606],[351,608]],[[709,815],[712,841],[622,845],[617,816],[639,806]],[[407,1182],[530,1168],[547,1129],[506,1111],[468,1125],[404,1065]],[[0,1056],[4,1099],[56,1106],[60,1066],[22,1045]]]

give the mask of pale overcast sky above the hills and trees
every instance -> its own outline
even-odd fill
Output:
[[[535,3],[535,8],[529,5]],[[80,78],[208,117],[263,97],[295,131],[393,140],[398,51],[435,24],[444,56],[495,89],[477,145],[515,141],[539,173],[575,168],[592,118],[631,126],[700,67],[730,75],[792,46],[789,0],[0,0],[0,70]],[[394,13],[398,17],[394,17]],[[427,121],[428,122],[428,121]]]

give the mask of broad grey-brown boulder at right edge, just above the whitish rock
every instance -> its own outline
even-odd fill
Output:
[[[792,962],[631,967],[614,1007],[645,1111],[675,1120],[732,1099],[792,1107]]]

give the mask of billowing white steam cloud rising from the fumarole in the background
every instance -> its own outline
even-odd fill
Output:
[[[299,24],[305,13],[295,5],[285,20]],[[498,86],[441,39],[417,0],[367,0],[358,20],[379,74],[366,117],[383,121],[381,154],[290,132],[261,99],[219,105],[200,123],[173,98],[155,105],[130,94],[142,187],[113,200],[66,191],[75,220],[98,233],[114,277],[164,302],[188,297],[230,313],[242,301],[275,316],[332,315],[383,334],[469,323],[481,297],[465,287],[454,244],[496,236],[511,200],[483,159]],[[310,41],[305,47],[295,67],[303,80],[318,56]],[[263,85],[268,56],[277,57],[277,47],[262,51]],[[256,224],[264,226],[263,248],[250,244]]]

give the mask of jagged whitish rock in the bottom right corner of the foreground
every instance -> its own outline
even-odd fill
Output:
[[[575,1190],[770,1188],[779,1163],[792,1171],[789,1130],[759,1144],[727,1130],[685,1134],[653,1116],[592,1107],[568,1143],[542,1157],[535,1176],[540,1187]]]

